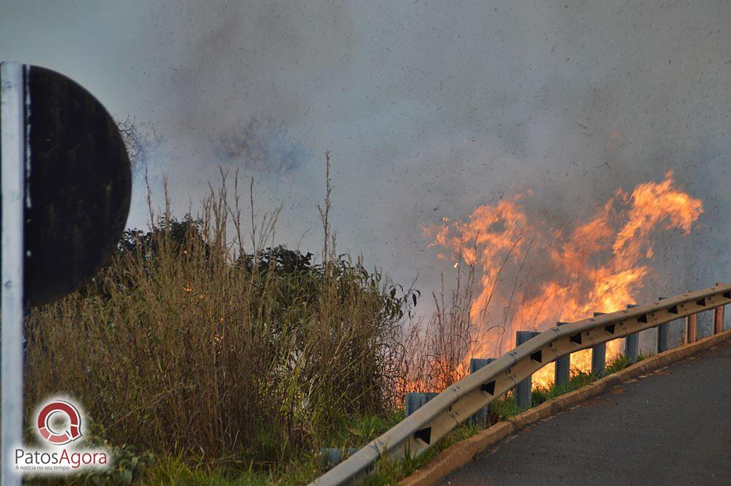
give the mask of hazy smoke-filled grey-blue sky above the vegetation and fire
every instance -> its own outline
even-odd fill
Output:
[[[425,290],[424,224],[528,186],[561,224],[670,169],[706,207],[673,289],[728,279],[729,1],[0,0],[0,58],[154,125],[178,213],[254,175],[289,246],[319,247],[329,149],[341,249]]]

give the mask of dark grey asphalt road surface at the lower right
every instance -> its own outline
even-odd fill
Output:
[[[537,422],[442,485],[731,485],[731,345]]]

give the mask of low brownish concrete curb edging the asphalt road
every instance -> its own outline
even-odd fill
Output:
[[[621,384],[624,381],[636,378],[637,376],[642,376],[649,371],[664,368],[672,362],[682,360],[691,354],[705,351],[705,349],[709,349],[723,343],[724,341],[729,341],[730,339],[731,330],[727,330],[723,333],[700,339],[694,343],[684,344],[683,346],[669,349],[666,352],[655,354],[654,356],[648,357],[634,365],[628,366],[617,373],[613,373],[609,376],[605,376],[605,378],[594,381],[594,383],[588,384],[586,387],[581,387],[573,392],[568,392],[564,395],[553,398],[552,400],[545,401],[539,406],[535,406],[532,409],[524,411],[522,414],[512,417],[510,420],[498,422],[470,438],[466,438],[463,441],[459,441],[457,444],[453,444],[448,449],[439,453],[439,455],[430,463],[426,464],[424,468],[418,469],[414,472],[414,474],[403,479],[400,484],[401,486],[436,485],[448,474],[451,474],[457,469],[469,464],[478,453],[497,444],[499,441],[502,441],[504,438],[507,438],[513,433],[519,432],[527,425],[541,419],[553,417],[553,415],[570,409],[589,398],[594,398],[596,395],[599,395],[605,390]]]

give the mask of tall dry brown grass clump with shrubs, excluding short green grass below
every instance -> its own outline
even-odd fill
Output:
[[[197,219],[151,213],[90,285],[31,312],[29,408],[65,392],[113,444],[234,468],[287,463],[393,409],[410,291],[335,257],[325,211],[324,264],[263,248],[276,212],[246,238],[222,179]]]

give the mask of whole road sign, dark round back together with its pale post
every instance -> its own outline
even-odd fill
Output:
[[[124,231],[132,173],[113,118],[73,80],[0,63],[0,86],[0,478],[19,486],[23,313],[73,292],[105,265]]]

